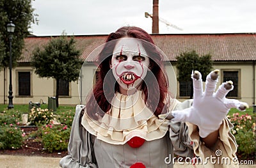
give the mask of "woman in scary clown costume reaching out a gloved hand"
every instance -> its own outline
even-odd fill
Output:
[[[231,81],[215,92],[218,70],[207,75],[205,89],[195,70],[194,98],[181,103],[169,91],[163,52],[143,29],[121,27],[93,56],[98,79],[84,105],[76,107],[61,167],[173,167],[174,154],[201,158],[204,167],[238,167],[225,116],[230,108],[244,111],[248,105],[225,98]],[[217,150],[231,162],[207,162],[218,157]]]

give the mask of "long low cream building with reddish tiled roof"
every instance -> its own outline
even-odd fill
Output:
[[[178,100],[189,98],[188,85],[176,80],[176,59],[182,52],[195,50],[199,55],[211,54],[213,69],[220,70],[221,82],[232,80],[235,89],[228,94],[228,98],[236,98],[255,105],[255,70],[256,70],[256,34],[152,34],[157,47],[166,55],[166,70],[170,81],[170,92]],[[56,94],[56,81],[54,79],[40,78],[30,65],[33,50],[43,48],[54,37],[31,36],[25,39],[22,59],[19,65],[12,70],[13,104],[26,104],[31,102],[46,102],[49,96]],[[81,50],[81,58],[86,60],[90,53],[104,44],[106,35],[74,36],[77,49]],[[95,82],[97,66],[92,62],[86,64],[82,71],[88,79],[80,85],[76,82],[60,82],[60,105],[76,105],[84,103],[86,95],[90,93]],[[0,103],[8,104],[9,70],[0,72]],[[175,80],[173,80],[175,79]]]

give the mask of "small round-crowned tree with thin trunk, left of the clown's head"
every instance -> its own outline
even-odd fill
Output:
[[[36,48],[33,52],[31,65],[39,77],[52,77],[56,80],[56,106],[60,95],[60,80],[76,81],[79,77],[82,61],[80,51],[76,49],[73,37],[65,34],[51,38],[43,50]]]

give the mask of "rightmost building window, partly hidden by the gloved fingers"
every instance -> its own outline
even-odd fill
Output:
[[[227,95],[229,98],[238,98],[240,97],[240,70],[223,70],[222,71],[222,81],[227,82],[232,80],[234,89],[230,91]]]

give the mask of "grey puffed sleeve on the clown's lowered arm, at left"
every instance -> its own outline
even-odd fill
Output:
[[[81,110],[83,107],[83,105],[76,106],[76,114],[72,123],[72,130],[68,143],[68,155],[61,158],[60,167],[97,167],[91,136],[81,125],[81,118],[83,117]]]

